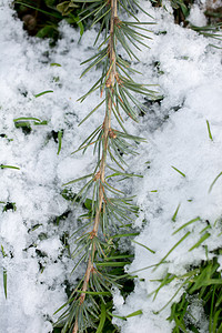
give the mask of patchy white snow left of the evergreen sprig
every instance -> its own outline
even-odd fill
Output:
[[[70,276],[74,263],[61,242],[67,230],[71,233],[75,228],[75,211],[59,225],[54,219],[73,209],[61,195],[62,184],[87,169],[87,161],[70,154],[85,134],[78,123],[91,104],[82,109],[75,101],[90,88],[90,82],[80,84],[80,62],[93,50],[78,44],[79,32],[68,26],[61,26],[65,37],[54,50],[48,41],[29,39],[8,4],[0,4],[0,134],[7,135],[0,138],[0,163],[20,170],[0,170],[0,245],[7,254],[1,255],[0,265],[8,276],[7,300],[0,278],[0,331],[48,333],[57,320],[53,313],[67,301],[65,280],[73,283],[77,279]],[[84,38],[88,46],[91,37]],[[61,67],[51,67],[53,62]],[[34,98],[47,90],[53,93]],[[13,119],[20,117],[47,120],[48,124],[30,121],[32,130],[24,134],[14,127]],[[58,155],[52,131],[62,129]],[[7,202],[14,202],[17,210],[2,212]]]

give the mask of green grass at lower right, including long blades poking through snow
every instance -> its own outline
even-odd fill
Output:
[[[173,234],[182,231],[184,233],[190,229],[191,225],[196,225],[196,223],[199,223],[200,226],[203,224],[203,222],[204,221],[202,221],[200,216],[192,219],[176,229]],[[162,306],[162,309],[155,312],[155,314],[159,314],[163,309],[169,306],[169,304],[172,304],[171,315],[168,317],[168,320],[174,323],[174,329],[172,331],[173,333],[200,333],[202,332],[201,322],[203,320],[208,321],[208,332],[220,333],[222,330],[222,276],[216,256],[221,253],[221,249],[211,251],[211,253],[213,253],[213,258],[211,260],[208,259],[208,246],[204,244],[204,242],[212,234],[214,234],[215,231],[208,221],[205,221],[205,224],[206,226],[200,231],[200,239],[191,246],[191,249],[189,249],[189,251],[194,251],[196,248],[204,248],[206,251],[206,260],[200,262],[199,265],[190,265],[186,269],[186,273],[183,275],[176,275],[167,272],[162,279],[158,280],[160,283],[159,286],[150,294],[153,295],[153,299],[155,299],[162,287],[168,287],[168,285],[172,282],[174,282],[176,285],[176,291],[172,297]],[[191,233],[194,232],[194,229],[192,232],[188,231],[181,238],[181,240],[176,242],[175,245],[172,246],[172,249],[163,256],[163,259],[155,265],[154,269],[157,269],[157,266],[160,264],[164,264],[171,252],[180,246],[180,244]],[[182,290],[183,294],[180,297],[180,301],[172,303],[174,297]],[[198,310],[195,306],[198,306]],[[200,315],[195,317],[194,313]]]

